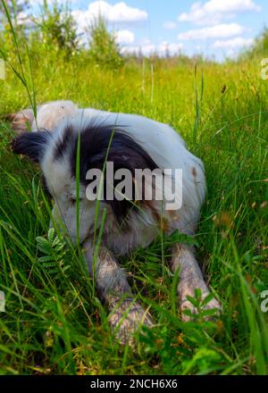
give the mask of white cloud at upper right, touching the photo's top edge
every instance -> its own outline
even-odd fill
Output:
[[[238,13],[260,11],[261,7],[254,0],[209,0],[204,4],[192,4],[189,13],[181,13],[178,20],[197,25],[215,25],[224,19],[234,18]]]

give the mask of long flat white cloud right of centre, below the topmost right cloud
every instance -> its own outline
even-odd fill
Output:
[[[213,38],[231,38],[240,36],[246,29],[238,23],[219,24],[216,26],[203,28],[203,29],[192,29],[180,33],[178,38],[182,40],[205,40]]]

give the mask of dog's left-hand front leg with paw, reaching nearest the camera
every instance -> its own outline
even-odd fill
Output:
[[[141,324],[152,325],[151,317],[139,305],[131,292],[125,272],[113,255],[100,247],[98,255],[93,257],[92,243],[84,244],[89,272],[96,280],[100,297],[109,308],[109,322],[122,343],[133,343],[133,333]]]

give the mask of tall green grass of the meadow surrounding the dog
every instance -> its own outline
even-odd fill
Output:
[[[38,167],[11,153],[13,131],[0,121],[0,289],[6,297],[0,373],[265,374],[268,328],[260,294],[268,288],[268,81],[260,78],[259,63],[163,60],[109,71],[82,55],[31,58],[38,103],[67,98],[170,123],[204,161],[197,258],[223,310],[216,322],[202,314],[180,322],[178,276],[168,269],[177,238],[161,236],[121,258],[133,291],[158,322],[138,336],[135,351],[121,347],[82,253],[56,233],[47,235],[51,205]],[[29,91],[11,69],[6,74],[0,115],[29,106]]]

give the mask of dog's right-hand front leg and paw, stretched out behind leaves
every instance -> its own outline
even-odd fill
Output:
[[[205,284],[203,274],[199,268],[192,249],[188,246],[176,244],[172,247],[172,272],[180,270],[180,281],[178,285],[178,295],[180,301],[181,318],[189,321],[190,317],[183,314],[184,310],[189,310],[191,314],[197,314],[197,309],[188,300],[188,297],[195,297],[195,289],[201,290],[202,298],[209,295],[210,291]],[[205,306],[205,309],[221,310],[219,302],[213,298]]]

